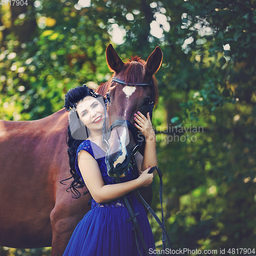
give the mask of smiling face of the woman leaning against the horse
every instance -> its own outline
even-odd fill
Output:
[[[104,107],[97,98],[84,97],[82,101],[78,102],[76,109],[80,120],[90,131],[103,127]]]

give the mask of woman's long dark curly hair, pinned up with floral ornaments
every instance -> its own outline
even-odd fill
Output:
[[[87,127],[81,123],[77,112],[76,112],[76,105],[77,103],[82,100],[86,96],[93,96],[95,98],[101,97],[101,95],[94,92],[93,89],[86,86],[86,84],[83,84],[83,86],[78,86],[75,88],[70,89],[67,94],[65,95],[65,104],[64,108],[70,112],[70,123],[68,126],[68,134],[67,134],[67,145],[68,145],[68,154],[69,154],[69,165],[70,165],[70,174],[72,177],[65,179],[74,179],[71,182],[70,187],[67,189],[67,191],[70,189],[72,193],[72,198],[79,198],[81,196],[80,192],[77,190],[77,188],[84,187],[84,183],[81,179],[81,177],[78,175],[75,169],[75,160],[76,160],[76,152],[78,146],[88,138],[90,131],[87,129]],[[83,135],[83,138],[81,139],[81,134]],[[62,180],[62,181],[65,181]],[[60,181],[61,184],[62,181]],[[89,190],[84,193],[83,195],[86,195],[89,193]]]

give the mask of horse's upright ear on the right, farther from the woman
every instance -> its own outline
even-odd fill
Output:
[[[146,60],[146,74],[152,76],[161,67],[163,53],[159,46],[156,47],[154,52]]]

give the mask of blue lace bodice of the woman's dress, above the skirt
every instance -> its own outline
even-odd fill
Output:
[[[78,167],[78,153],[81,150],[87,151],[97,161],[99,168],[100,168],[101,176],[102,176],[102,179],[103,179],[103,182],[105,185],[117,183],[116,179],[114,177],[110,177],[108,175],[108,168],[106,167],[106,163],[105,163],[105,154],[106,153],[97,144],[95,144],[94,142],[92,142],[90,140],[84,140],[78,146],[77,152],[76,152],[75,168],[76,168],[76,172],[81,177],[81,180],[83,181],[83,183],[84,183],[84,180],[82,178],[80,169]],[[127,175],[125,177],[120,178],[120,182],[122,183],[122,182],[130,181],[130,180],[134,180],[138,177],[139,177],[138,169],[137,169],[137,166],[135,165],[134,169],[132,169],[131,167],[129,168]],[[130,200],[129,194],[127,195],[127,199]],[[134,204],[138,203],[135,196],[132,196],[132,201]],[[92,199],[92,208],[94,208],[94,207],[123,207],[123,206],[124,206],[124,203],[121,198],[113,200],[108,203],[102,203],[102,204],[99,204],[96,201],[94,201],[94,199]]]

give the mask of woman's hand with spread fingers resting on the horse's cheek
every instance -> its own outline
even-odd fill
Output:
[[[152,123],[150,120],[150,113],[147,112],[147,118],[140,113],[139,111],[137,114],[134,114],[134,120],[137,122],[134,125],[137,129],[143,134],[146,140],[154,140],[156,138],[156,134],[153,130]]]

